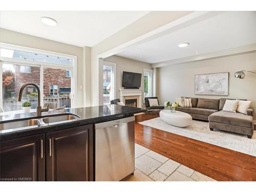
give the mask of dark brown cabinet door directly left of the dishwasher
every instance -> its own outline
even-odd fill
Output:
[[[93,125],[46,134],[46,180],[93,180]]]

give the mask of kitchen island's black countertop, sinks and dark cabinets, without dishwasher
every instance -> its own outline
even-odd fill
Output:
[[[0,114],[1,180],[93,181],[95,124],[140,112],[102,105],[43,112],[39,118]]]

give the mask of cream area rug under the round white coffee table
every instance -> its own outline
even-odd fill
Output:
[[[246,135],[220,130],[210,131],[208,122],[197,120],[193,120],[190,125],[183,128],[167,124],[162,121],[160,117],[139,123],[142,125],[154,127],[159,130],[182,135],[191,139],[196,139],[256,157],[255,131],[252,138],[248,139]]]

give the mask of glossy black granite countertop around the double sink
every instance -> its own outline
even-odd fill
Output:
[[[80,118],[55,123],[44,123],[27,127],[18,127],[15,129],[3,129],[0,127],[0,140],[4,141],[18,137],[68,129],[69,127],[80,126],[84,124],[98,123],[123,117],[129,117],[135,113],[140,112],[145,112],[145,110],[115,104],[42,112],[42,117],[40,118],[47,116],[57,116],[60,114],[75,114]],[[0,123],[31,118],[37,118],[36,113],[0,115]]]

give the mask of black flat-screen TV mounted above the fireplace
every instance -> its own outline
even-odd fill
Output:
[[[122,87],[124,89],[139,89],[141,83],[141,73],[123,71]]]

